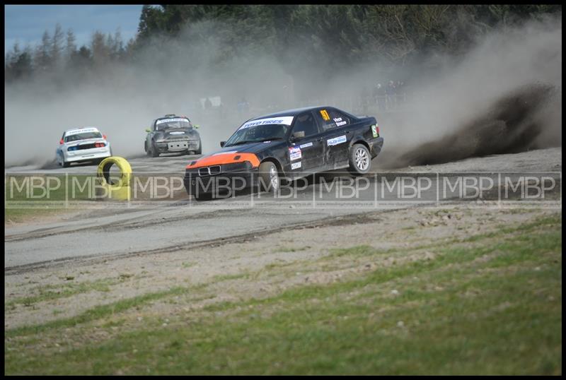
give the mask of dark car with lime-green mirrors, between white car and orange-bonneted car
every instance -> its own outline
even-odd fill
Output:
[[[158,117],[146,129],[147,136],[144,149],[147,155],[158,157],[161,153],[202,153],[200,134],[195,131],[197,125],[192,125],[186,116],[166,114]]]

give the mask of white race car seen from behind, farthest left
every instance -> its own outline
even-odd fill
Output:
[[[112,155],[110,143],[94,127],[69,129],[57,147],[57,163],[69,167],[71,162],[100,161]]]

